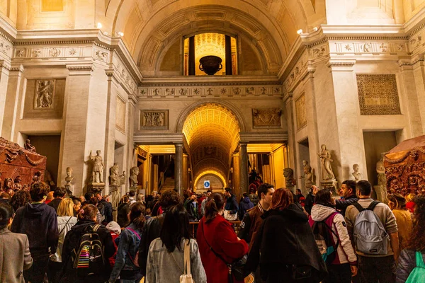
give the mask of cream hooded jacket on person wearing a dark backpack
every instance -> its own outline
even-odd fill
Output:
[[[326,207],[322,204],[315,204],[312,207],[312,215],[310,216],[309,223],[313,226],[314,222],[326,221],[331,214],[335,213],[336,209],[332,207]],[[327,224],[330,226],[329,224]],[[342,214],[335,214],[331,224],[332,231],[338,235],[338,238],[332,233],[334,243],[339,240],[339,246],[336,249],[336,258],[332,262],[333,265],[341,265],[349,262],[350,265],[357,264],[356,253],[354,253],[353,246],[351,245],[350,236],[346,228],[344,216]]]

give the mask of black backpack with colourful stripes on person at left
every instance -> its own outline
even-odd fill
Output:
[[[72,250],[73,267],[78,277],[103,275],[105,272],[103,243],[97,233],[99,227],[99,224],[86,226],[78,250]]]

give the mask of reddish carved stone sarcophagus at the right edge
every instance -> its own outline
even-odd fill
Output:
[[[385,154],[387,192],[405,195],[425,190],[425,135],[407,139]]]

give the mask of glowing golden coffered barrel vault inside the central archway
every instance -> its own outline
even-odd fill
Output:
[[[183,125],[195,178],[205,171],[227,176],[239,141],[239,123],[227,108],[210,103],[193,110]]]

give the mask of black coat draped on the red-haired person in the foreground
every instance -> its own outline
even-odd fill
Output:
[[[269,210],[262,217],[263,226],[249,253],[247,270],[254,272],[260,264],[261,277],[267,280],[272,273],[273,277],[288,277],[288,270],[292,270],[293,265],[307,265],[313,268],[308,282],[320,282],[326,276],[327,268],[304,212],[297,205],[290,204],[283,210]],[[276,266],[280,268],[276,269]],[[279,273],[281,276],[276,276]]]

